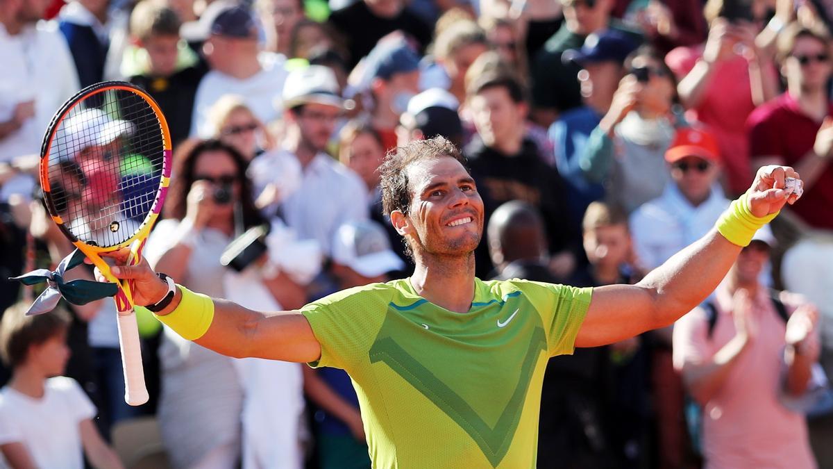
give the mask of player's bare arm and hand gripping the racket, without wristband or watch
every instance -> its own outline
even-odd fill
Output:
[[[153,305],[167,295],[167,285],[142,260],[138,265],[123,265],[127,250],[108,255],[117,261],[112,274],[133,280],[133,300],[137,305]],[[98,280],[103,280],[97,272]],[[192,295],[192,294],[191,294]],[[174,311],[182,301],[177,288],[170,305],[157,315],[182,314]],[[312,334],[307,319],[297,310],[262,312],[248,310],[227,300],[213,300],[214,315],[205,333],[194,341],[208,349],[235,358],[257,357],[271,360],[308,362],[321,357],[321,345]],[[177,331],[179,332],[179,331]]]

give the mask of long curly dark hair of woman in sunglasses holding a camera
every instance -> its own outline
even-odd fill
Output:
[[[234,147],[217,139],[191,140],[183,142],[173,155],[173,177],[171,187],[165,199],[165,217],[183,219],[185,217],[188,191],[194,184],[194,167],[197,158],[210,151],[222,151],[228,154],[237,167],[237,179],[240,181],[240,203],[242,204],[243,226],[246,229],[266,223],[252,199],[252,180],[246,175],[247,159]]]

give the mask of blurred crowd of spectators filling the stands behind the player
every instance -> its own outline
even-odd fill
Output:
[[[122,80],[174,149],[147,260],[257,310],[410,274],[377,169],[416,139],[468,159],[479,277],[576,286],[639,281],[758,168],[792,166],[803,197],[701,307],[551,359],[538,466],[833,467],[816,444],[833,416],[831,18],[829,0],[0,0],[0,466],[371,464],[343,371],[220,356],[140,310],[151,401],[132,407],[112,300],[23,315],[39,291],[5,279],[72,251],[37,187],[43,133],[80,89]],[[107,177],[77,174],[69,203]],[[125,435],[161,446],[137,456]]]

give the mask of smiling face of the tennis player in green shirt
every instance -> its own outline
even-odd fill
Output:
[[[411,204],[405,234],[414,252],[471,255],[483,233],[483,200],[474,179],[451,157],[424,159],[406,171]]]

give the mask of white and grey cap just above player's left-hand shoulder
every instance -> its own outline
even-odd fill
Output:
[[[405,263],[391,250],[385,229],[372,220],[356,220],[338,227],[332,260],[365,277],[402,270]]]

